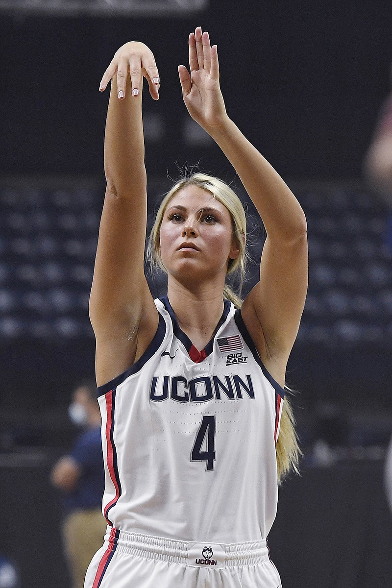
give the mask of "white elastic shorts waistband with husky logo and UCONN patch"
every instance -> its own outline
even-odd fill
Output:
[[[269,561],[266,540],[245,543],[189,542],[132,533],[108,526],[105,542],[118,553],[172,563],[211,567],[246,566]],[[209,566],[210,567],[210,566]]]

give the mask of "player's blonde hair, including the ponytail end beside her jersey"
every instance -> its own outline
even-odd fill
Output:
[[[247,260],[246,252],[246,215],[242,202],[236,193],[225,182],[219,178],[207,175],[206,173],[192,173],[190,176],[183,176],[175,185],[167,192],[165,198],[160,203],[158,212],[156,214],[153,228],[150,232],[147,256],[151,266],[158,266],[165,273],[166,268],[163,265],[160,256],[160,226],[162,225],[163,215],[170,200],[180,190],[187,186],[197,186],[206,192],[210,192],[213,197],[223,204],[230,213],[232,219],[233,238],[236,240],[239,248],[239,255],[236,259],[229,259],[227,264],[227,274],[238,272],[240,274],[240,288],[239,294],[235,293],[229,284],[225,283],[223,288],[223,298],[230,300],[236,308],[241,308],[242,299],[240,292],[242,290],[245,268]],[[287,390],[287,389],[286,389]],[[294,415],[287,393],[284,397],[282,417],[280,422],[280,432],[276,443],[276,459],[279,483],[291,470],[299,473],[298,463],[301,455],[301,450],[298,445],[297,435],[294,429]]]

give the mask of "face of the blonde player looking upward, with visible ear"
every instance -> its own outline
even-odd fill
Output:
[[[176,278],[225,279],[239,255],[226,206],[199,186],[186,186],[169,201],[160,226],[160,256]]]

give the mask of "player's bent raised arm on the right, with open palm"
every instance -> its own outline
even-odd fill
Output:
[[[185,105],[232,163],[267,233],[260,281],[244,300],[242,316],[264,363],[283,385],[307,291],[306,219],[286,183],[227,116],[217,48],[200,28],[189,36],[189,66],[190,74],[179,66]]]

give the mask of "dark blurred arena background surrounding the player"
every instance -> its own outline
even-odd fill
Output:
[[[98,86],[120,45],[145,42],[160,72],[159,102],[143,96],[150,220],[185,165],[243,194],[182,102],[177,65],[197,25],[218,46],[227,112],[309,226],[309,295],[287,372],[304,457],[280,489],[272,558],[286,588],[390,586],[392,145],[382,181],[371,146],[388,131],[391,2],[0,0],[0,23],[0,588],[71,586],[50,476],[80,432],[73,392],[93,377],[109,98]],[[263,228],[243,197],[246,295]],[[162,294],[164,277],[149,280]]]

